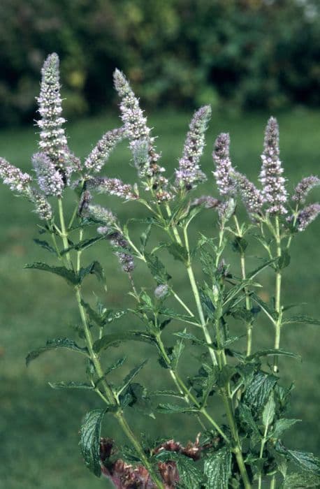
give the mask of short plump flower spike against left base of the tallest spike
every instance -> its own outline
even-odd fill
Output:
[[[43,193],[46,196],[60,197],[64,190],[64,180],[49,156],[45,153],[36,153],[32,156],[32,164]]]

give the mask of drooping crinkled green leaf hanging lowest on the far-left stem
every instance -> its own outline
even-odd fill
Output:
[[[101,476],[100,433],[101,423],[106,409],[93,409],[85,415],[80,430],[81,453],[85,465],[97,477]]]

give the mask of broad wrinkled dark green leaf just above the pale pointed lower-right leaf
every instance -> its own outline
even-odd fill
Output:
[[[256,372],[252,381],[245,390],[244,401],[249,406],[260,409],[263,407],[277,382],[277,377],[265,372]]]

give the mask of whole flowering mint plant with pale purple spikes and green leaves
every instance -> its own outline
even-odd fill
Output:
[[[26,268],[66,280],[78,303],[81,320],[77,338],[48,340],[45,346],[29,353],[27,365],[50,350],[67,349],[82,356],[82,382],[57,381],[50,386],[87,389],[96,395],[96,409],[85,414],[82,421],[81,451],[88,469],[98,477],[106,476],[115,488],[319,487],[319,459],[282,442],[284,432],[298,420],[288,417],[292,387],[284,386],[279,377],[279,359],[298,358],[282,347],[282,329],[289,323],[320,323],[309,316],[291,314],[290,307],[282,301],[282,280],[290,264],[291,242],[320,212],[319,203],[306,203],[310,190],[319,185],[319,178],[304,178],[289,196],[279,159],[278,124],[271,117],[261,155],[261,187],[257,189],[235,169],[229,155],[230,138],[221,133],[214,143],[211,177],[219,198],[195,198],[192,192],[207,179],[200,161],[210,107],[200,108],[192,117],[182,156],[169,178],[129,82],[118,70],[114,82],[121,100],[122,125],[104,134],[87,159],[80,161],[68,148],[65,119],[61,116],[59,58],[50,54],[43,65],[38,97],[40,142],[32,157],[34,177],[0,159],[3,183],[34,205],[41,219],[41,237],[48,237],[36,243],[51,253],[52,261],[35,261]],[[137,170],[135,184],[101,176],[110,153],[124,139]],[[73,191],[76,196],[75,208],[68,216],[64,210],[66,191]],[[145,207],[147,217],[131,216],[122,223],[115,212],[96,203],[96,194],[135,200]],[[247,211],[245,219],[238,217],[242,205]],[[217,225],[203,230],[191,246],[191,223],[207,210],[216,215]],[[132,233],[137,221],[144,226],[140,242]],[[154,230],[163,238],[152,247],[150,237]],[[250,236],[261,245],[257,268],[248,263]],[[85,297],[82,284],[89,275],[101,282],[103,293],[106,290],[108,277],[101,263],[85,261],[85,251],[101,240],[108,244],[108,253],[117,256],[122,272],[128,276],[134,306],[126,308],[124,304],[123,310],[112,310],[108,293],[95,305]],[[228,265],[230,242],[239,256],[240,276]],[[194,298],[191,302],[173,286],[168,266],[163,263],[170,255],[185,270]],[[138,261],[150,271],[154,291],[136,285]],[[197,268],[197,276],[195,264],[202,269],[199,272]],[[261,272],[266,268],[275,275],[275,299],[270,303],[259,295],[263,286]],[[117,329],[116,321],[125,313],[135,317],[136,329]],[[243,325],[245,348],[243,339],[240,342],[231,329],[234,320]],[[274,336],[264,349],[256,351],[255,335],[259,335],[260,323],[266,321]],[[164,336],[164,330],[170,332],[171,323],[180,323],[181,330]],[[168,377],[171,390],[152,391],[151,384],[142,386],[136,382],[140,370],[147,369],[145,361],[129,372],[124,356],[108,363],[108,349],[123,342],[154,346],[159,374]],[[194,351],[188,360],[193,362],[189,377],[180,368],[186,344],[191,344]],[[110,380],[115,369],[123,372],[123,380],[117,385]],[[225,415],[222,421],[217,417],[221,407]],[[172,439],[163,426],[159,439],[147,442],[127,421],[126,412],[131,408],[137,415],[157,416],[159,412],[194,416],[199,434],[195,433],[194,441],[184,446]],[[117,441],[108,437],[108,428],[101,437],[105,416],[113,418],[128,439],[129,447],[119,447],[121,455]]]

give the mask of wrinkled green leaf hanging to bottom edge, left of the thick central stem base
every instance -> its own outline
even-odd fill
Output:
[[[204,473],[207,476],[206,488],[224,489],[228,487],[231,476],[231,452],[224,447],[205,458]]]

